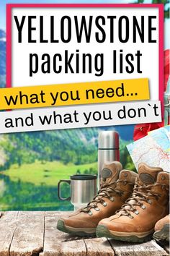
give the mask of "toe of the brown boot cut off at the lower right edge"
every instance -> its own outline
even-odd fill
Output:
[[[158,222],[156,222],[155,233],[153,234],[153,238],[157,241],[167,241],[169,242],[169,223],[170,223],[170,215],[166,215],[164,218],[161,218]]]

